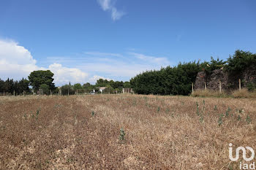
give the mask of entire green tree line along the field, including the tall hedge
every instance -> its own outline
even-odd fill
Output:
[[[211,57],[211,61],[192,61],[178,63],[177,66],[167,66],[159,70],[151,70],[140,73],[129,82],[119,82],[113,80],[99,79],[95,85],[89,82],[81,85],[76,83],[61,86],[63,95],[78,93],[90,93],[92,90],[99,90],[105,87],[104,93],[121,93],[123,88],[132,88],[138,94],[159,94],[159,95],[189,95],[192,92],[192,82],[195,82],[198,72],[206,72],[210,75],[215,69],[223,69],[230,76],[241,75],[245,69],[256,70],[256,54],[243,50],[236,50],[234,55],[230,55],[227,61],[216,60]],[[59,88],[53,83],[53,73],[47,71],[34,71],[29,74],[29,80],[22,79],[14,81],[12,79],[0,79],[0,93],[59,93]],[[256,89],[255,82],[249,82],[246,87],[249,90]]]

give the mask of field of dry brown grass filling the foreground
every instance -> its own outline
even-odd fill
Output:
[[[238,169],[255,121],[249,98],[1,97],[0,169]]]

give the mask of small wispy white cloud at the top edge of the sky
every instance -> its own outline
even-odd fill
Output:
[[[125,15],[124,12],[122,11],[118,11],[116,9],[116,7],[114,7],[114,2],[113,0],[97,0],[100,7],[102,7],[102,9],[104,11],[109,11],[111,12],[111,18],[112,20],[119,20],[122,16]]]

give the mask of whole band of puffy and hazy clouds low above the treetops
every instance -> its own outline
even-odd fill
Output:
[[[44,65],[40,67],[39,64]],[[35,70],[50,70],[56,85],[95,83],[99,78],[128,81],[136,74],[170,65],[165,57],[127,53],[86,52],[69,57],[48,57],[36,61],[17,42],[0,39],[0,78],[27,78]],[[41,65],[42,66],[42,65]]]

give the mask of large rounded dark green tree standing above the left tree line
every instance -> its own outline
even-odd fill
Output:
[[[34,90],[39,90],[40,85],[42,84],[48,85],[50,90],[54,90],[55,85],[53,83],[53,75],[54,74],[50,72],[50,70],[34,71],[29,75],[29,82],[31,83],[31,86],[33,86]]]

